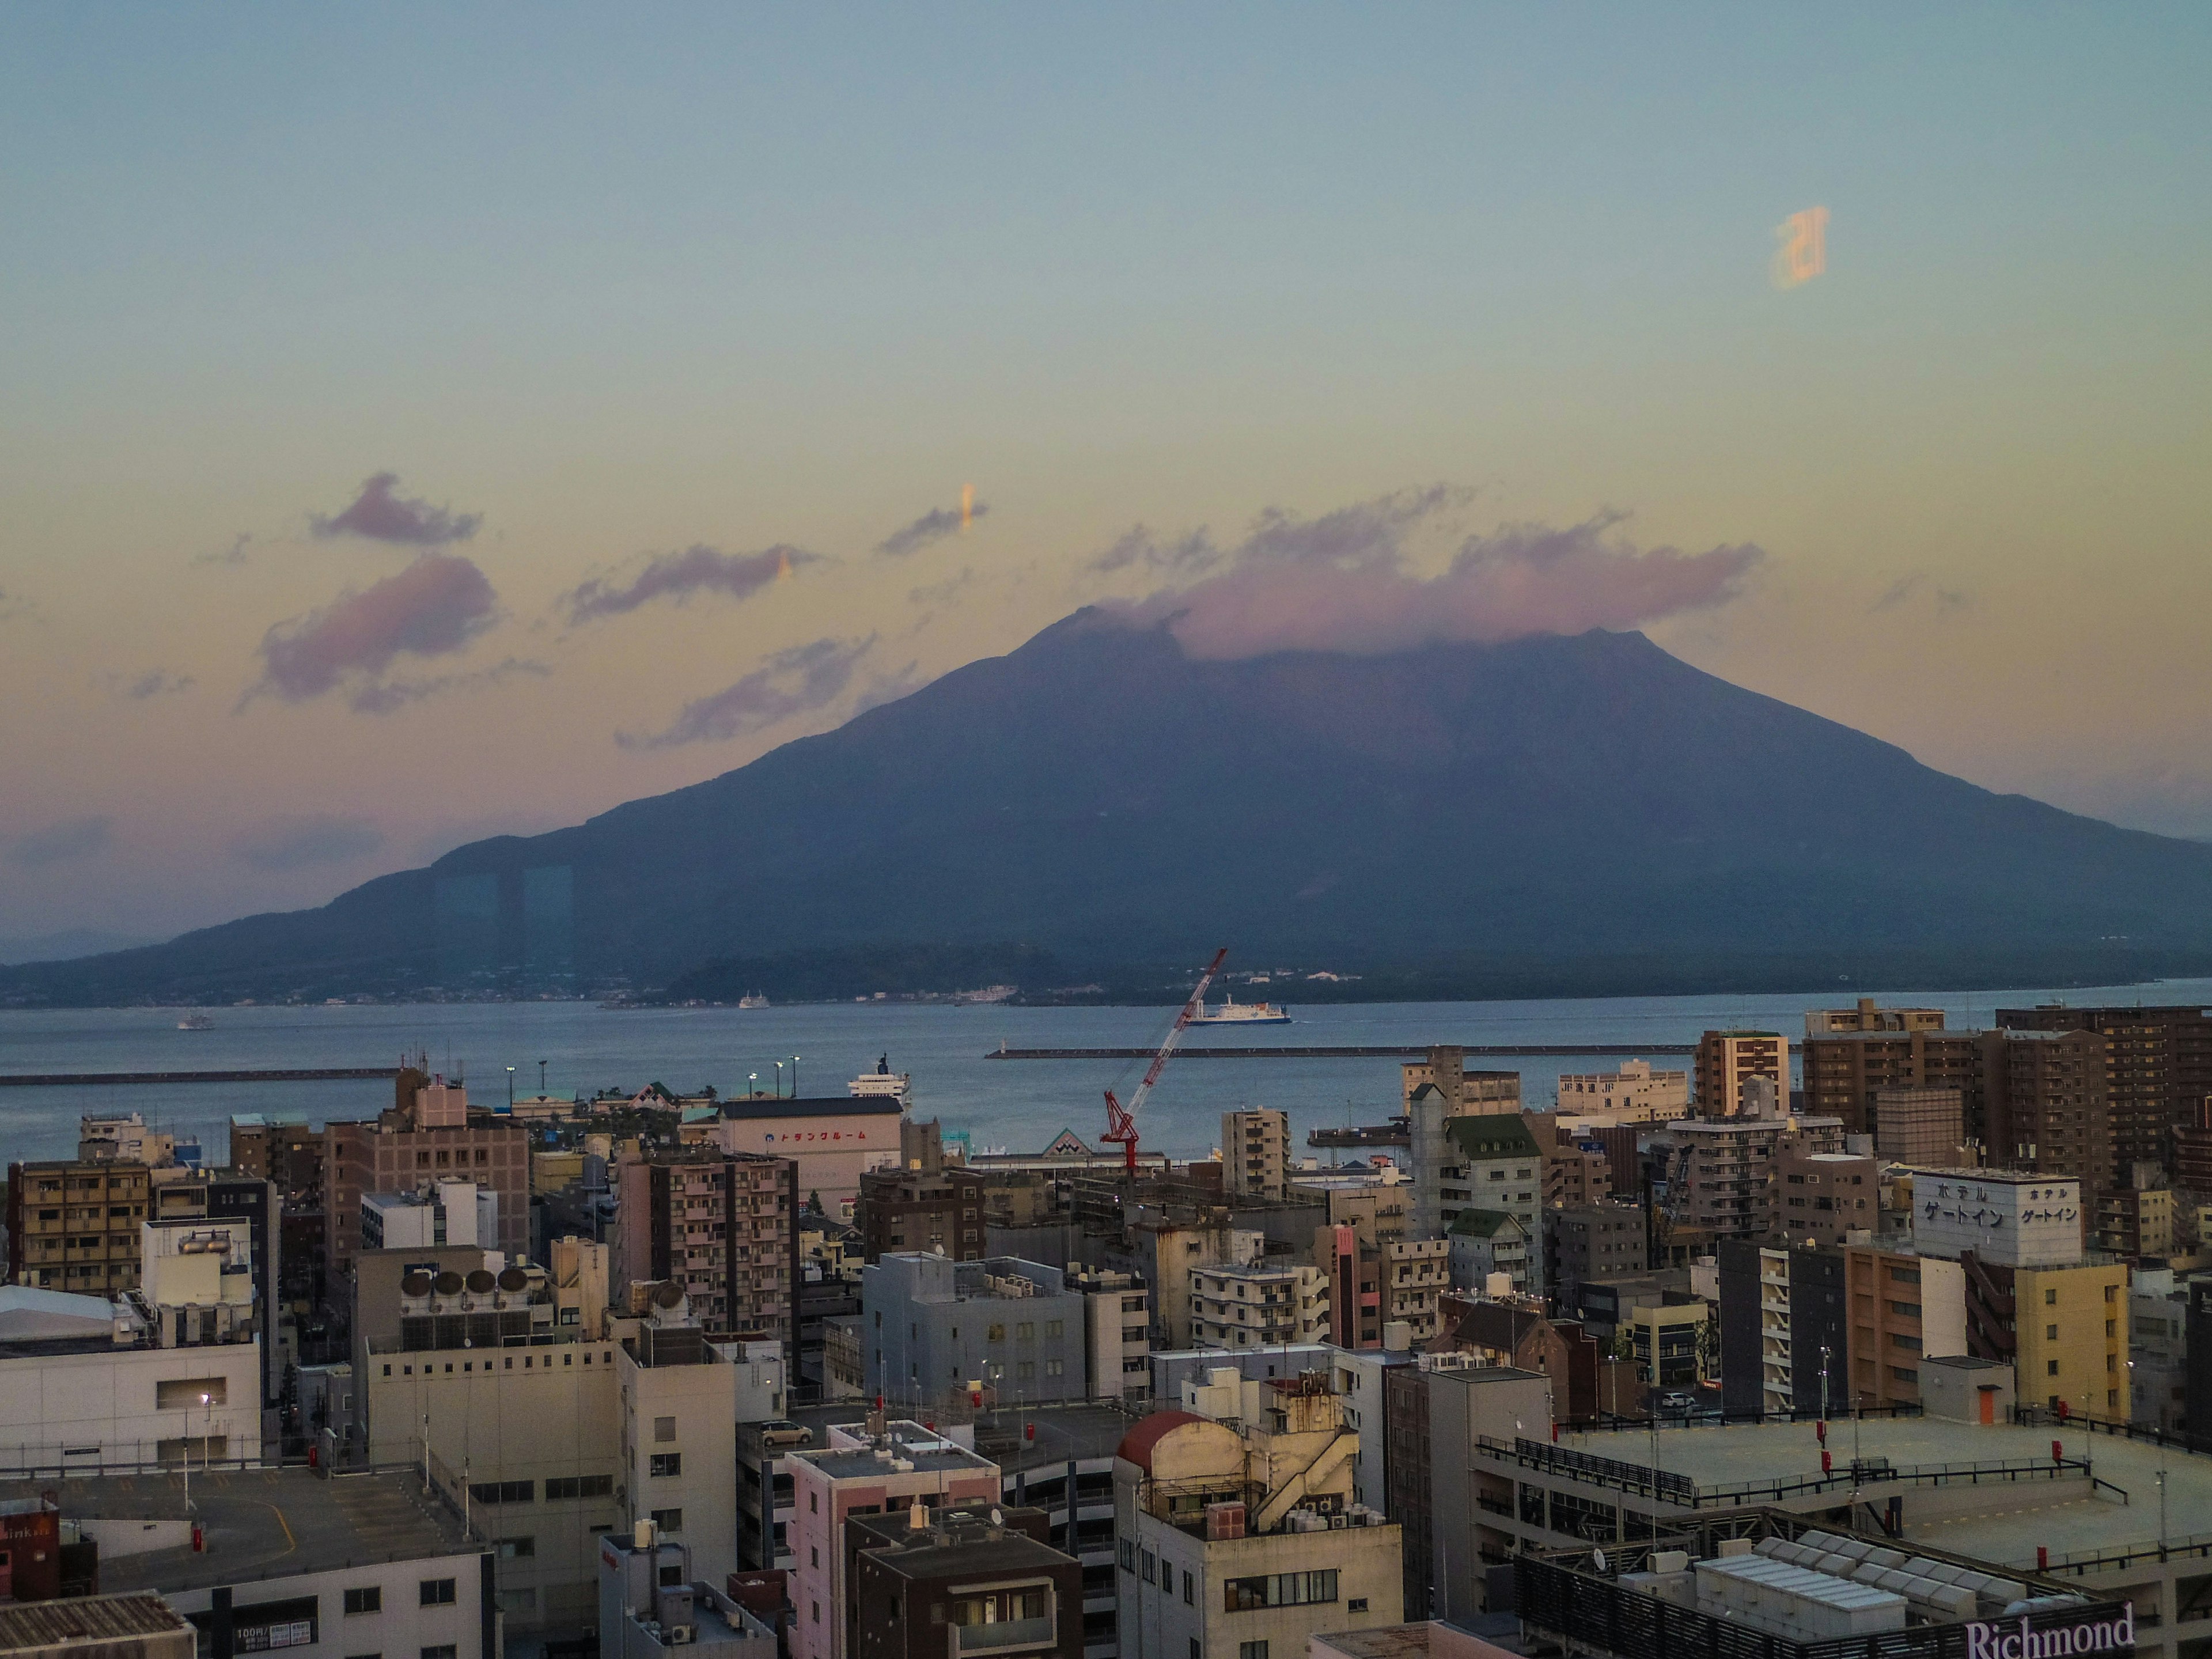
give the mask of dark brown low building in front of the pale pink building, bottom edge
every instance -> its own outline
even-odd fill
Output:
[[[852,1659],[1082,1659],[1084,1568],[1040,1509],[909,1506],[845,1522]]]

